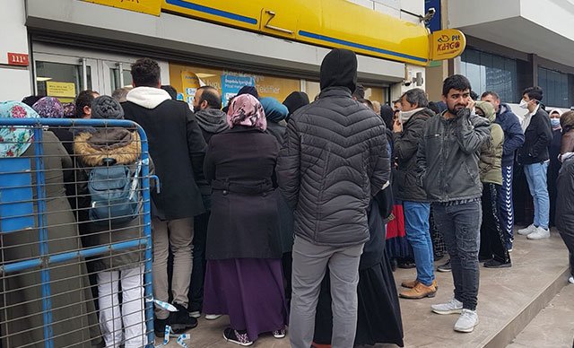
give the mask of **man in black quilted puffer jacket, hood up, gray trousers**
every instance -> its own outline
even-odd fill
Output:
[[[382,120],[356,100],[357,57],[333,49],[321,64],[320,98],[290,119],[277,163],[279,186],[294,209],[291,346],[313,338],[321,280],[329,266],[334,347],[351,347],[367,207],[388,185],[390,161]]]

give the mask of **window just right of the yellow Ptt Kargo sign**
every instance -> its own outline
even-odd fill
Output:
[[[516,60],[466,48],[460,67],[461,74],[468,78],[478,95],[496,91],[500,100],[518,102]]]

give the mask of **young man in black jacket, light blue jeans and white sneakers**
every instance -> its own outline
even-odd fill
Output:
[[[550,198],[546,175],[550,156],[548,146],[552,143],[552,126],[550,117],[540,106],[543,91],[540,87],[529,87],[522,92],[520,108],[528,109],[522,121],[525,143],[518,150],[518,162],[524,165],[524,172],[530,195],[534,200],[535,219],[518,234],[528,239],[544,239],[550,237],[548,230],[550,215]]]

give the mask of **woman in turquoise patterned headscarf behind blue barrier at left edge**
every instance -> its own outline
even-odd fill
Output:
[[[39,118],[39,115],[23,103],[6,101],[0,103],[0,118]],[[82,243],[70,204],[65,197],[64,177],[72,173],[72,160],[56,135],[42,131],[42,137],[45,182],[39,184],[34,174],[28,174],[25,179],[30,180],[30,212],[31,209],[33,212],[38,211],[38,206],[34,203],[39,199],[36,187],[42,185],[44,188],[44,222],[48,230],[48,252],[55,255],[82,248]],[[10,159],[19,159],[20,165],[30,167],[27,173],[35,173],[37,141],[39,139],[34,137],[31,127],[0,127],[0,161],[4,161],[3,168],[9,166]],[[11,192],[7,189],[9,185],[7,177],[0,180],[0,191],[4,191],[3,200]],[[22,208],[22,204],[15,208]],[[5,209],[3,211],[6,212]],[[5,218],[0,216],[0,220],[7,221]],[[39,231],[35,214],[30,220],[13,231],[5,231],[6,225],[2,225],[4,263],[39,257]],[[82,257],[49,265],[52,336],[56,347],[91,347],[101,342],[98,318],[86,274]],[[2,346],[43,345],[44,309],[41,284],[39,267],[4,275],[3,308],[0,309]]]

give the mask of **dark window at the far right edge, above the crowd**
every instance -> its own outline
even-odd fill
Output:
[[[544,91],[544,105],[559,108],[574,105],[570,99],[574,86],[569,83],[568,74],[538,66],[538,85]]]

